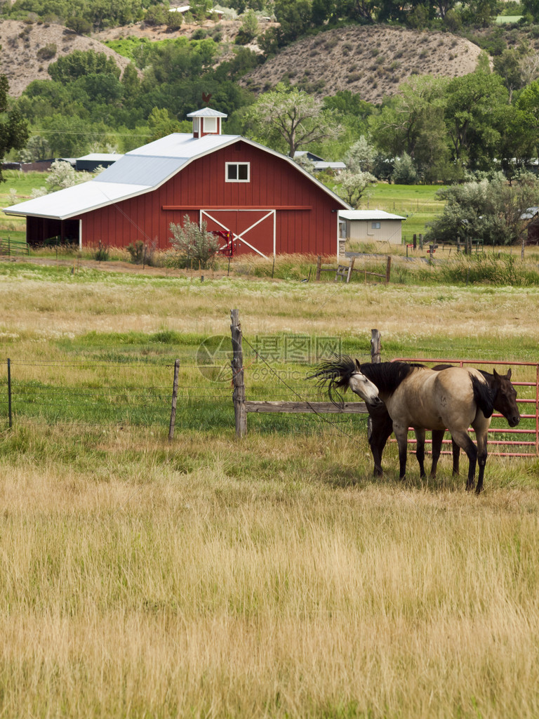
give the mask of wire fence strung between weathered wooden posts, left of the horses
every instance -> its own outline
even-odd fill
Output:
[[[229,339],[229,338],[228,338]],[[229,340],[230,342],[230,340]],[[257,400],[320,400],[312,379],[320,357],[290,362],[272,357],[268,362],[255,344],[245,353],[247,394]],[[175,427],[234,430],[231,351],[211,356],[200,348],[180,357],[109,361],[104,359],[0,360],[0,426],[23,418],[47,423],[129,423],[168,427],[172,407],[175,361],[179,359]],[[300,432],[341,428],[354,433],[364,426],[363,416],[264,414],[249,418],[259,432]]]

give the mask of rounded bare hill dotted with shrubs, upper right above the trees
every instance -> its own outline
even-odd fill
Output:
[[[241,84],[262,92],[288,78],[318,95],[350,90],[379,103],[410,75],[473,72],[480,52],[477,45],[448,32],[346,27],[299,40],[245,75]]]

